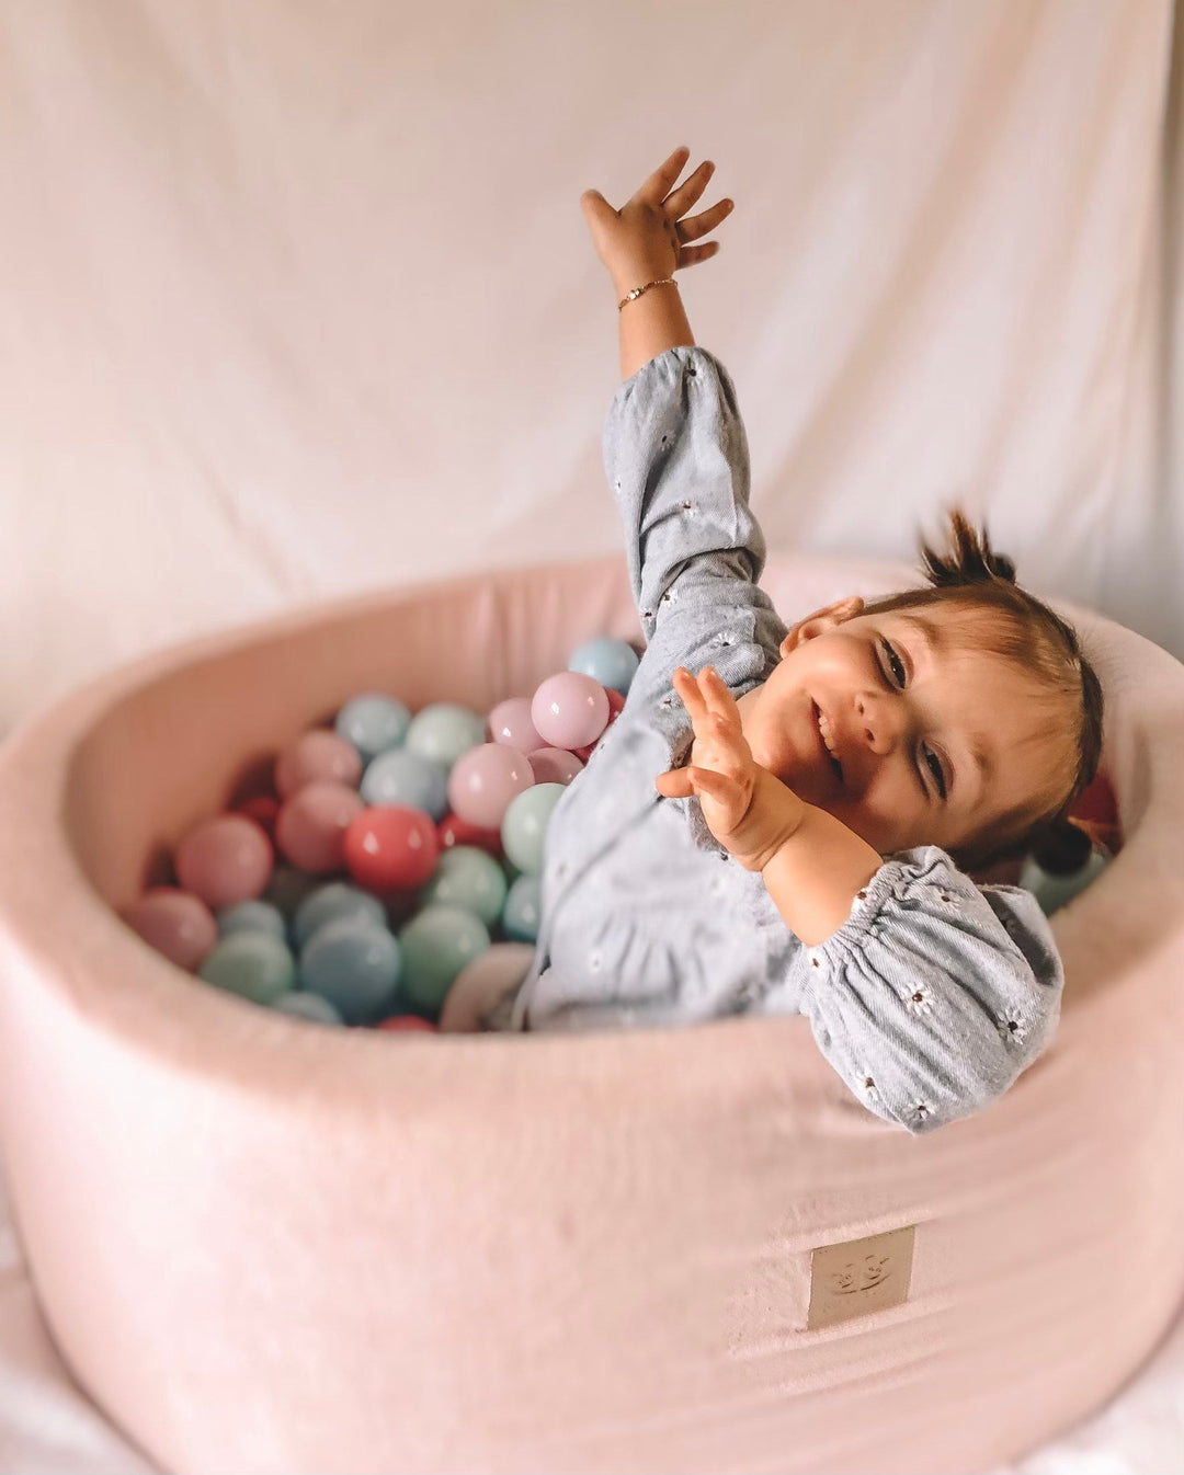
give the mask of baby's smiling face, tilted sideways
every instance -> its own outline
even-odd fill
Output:
[[[737,704],[744,736],[759,764],[881,856],[955,850],[1030,802],[1048,773],[1029,690],[997,656],[935,650],[917,611],[861,609],[840,600],[790,630],[775,671]]]

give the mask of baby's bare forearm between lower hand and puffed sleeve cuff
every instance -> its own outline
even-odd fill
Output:
[[[855,830],[806,804],[793,835],[760,870],[774,906],[808,947],[824,943],[850,916],[850,904],[881,866]]]

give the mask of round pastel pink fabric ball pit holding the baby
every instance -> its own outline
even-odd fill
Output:
[[[785,558],[763,583],[794,617],[909,581]],[[1054,917],[1051,1049],[926,1137],[802,1018],[391,1040],[208,988],[112,910],[356,692],[490,711],[638,639],[619,558],[306,609],[27,723],[0,751],[0,1127],[81,1386],[162,1468],[244,1475],[968,1475],[1097,1410],[1184,1291],[1184,670],[1063,608],[1125,848]],[[809,1330],[812,1251],[902,1226],[906,1301]]]

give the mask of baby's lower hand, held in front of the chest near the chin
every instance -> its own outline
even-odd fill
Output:
[[[695,733],[691,761],[654,780],[667,799],[698,795],[703,819],[719,844],[747,869],[763,870],[802,822],[803,801],[762,768],[744,738],[740,708],[715,667],[673,676]]]

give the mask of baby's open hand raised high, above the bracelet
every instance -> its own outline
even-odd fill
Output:
[[[706,240],[703,245],[691,242],[715,230],[729,214],[732,202],[722,199],[698,215],[682,218],[707,189],[707,180],[715,173],[715,164],[704,159],[675,189],[689,153],[685,148],[675,149],[620,209],[613,209],[599,190],[589,189],[580,196],[596,255],[622,295],[645,282],[666,280],[681,267],[706,261],[719,251],[717,240]]]

